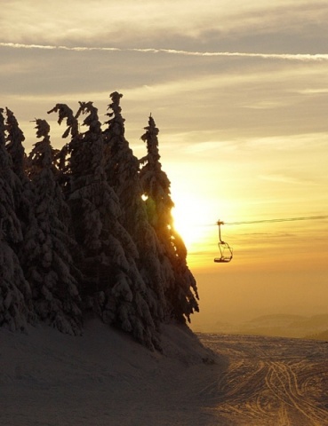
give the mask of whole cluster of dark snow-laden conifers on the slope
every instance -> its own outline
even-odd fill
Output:
[[[160,349],[161,324],[198,311],[159,130],[150,115],[147,154],[134,156],[122,96],[110,94],[103,124],[92,102],[79,102],[76,114],[53,106],[48,114],[66,124],[63,146],[54,149],[50,125],[36,119],[29,154],[14,114],[0,109],[0,326],[43,322],[81,335],[97,315]]]

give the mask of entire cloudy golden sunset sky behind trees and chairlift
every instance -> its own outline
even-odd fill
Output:
[[[192,327],[328,306],[328,3],[0,0],[0,95],[27,151],[58,103],[121,92],[142,157],[151,113],[200,295]],[[305,220],[260,222],[302,217]],[[214,264],[218,220],[234,249]],[[246,222],[243,225],[229,225]],[[247,224],[247,222],[255,222]]]

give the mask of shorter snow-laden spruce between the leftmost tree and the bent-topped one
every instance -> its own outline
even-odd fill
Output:
[[[49,131],[45,120],[36,120],[36,138],[41,140],[28,155],[36,220],[26,233],[24,264],[38,317],[62,333],[80,335],[82,312],[70,255],[75,241],[68,232],[68,205],[55,178]]]

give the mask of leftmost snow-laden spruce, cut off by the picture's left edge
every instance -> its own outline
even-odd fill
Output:
[[[20,180],[5,149],[4,109],[0,108],[0,326],[19,330],[33,318],[33,309],[30,287],[15,253],[22,233],[14,193],[20,193]]]

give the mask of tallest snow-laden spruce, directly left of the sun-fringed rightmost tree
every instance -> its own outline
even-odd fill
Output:
[[[140,184],[140,164],[132,153],[129,142],[124,137],[124,118],[121,114],[122,94],[110,94],[112,103],[108,106],[108,129],[104,131],[108,148],[106,171],[108,182],[119,197],[123,210],[123,224],[132,235],[139,251],[138,267],[151,294],[153,318],[163,321],[170,317],[164,292],[167,289],[167,274],[163,248],[154,228],[149,225],[145,203],[142,201]]]

